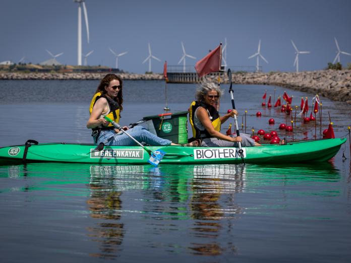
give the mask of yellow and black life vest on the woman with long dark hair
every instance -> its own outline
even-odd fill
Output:
[[[114,120],[115,122],[119,123],[120,117],[121,117],[121,115],[120,115],[121,111],[120,111],[120,106],[118,105],[118,102],[116,102],[115,100],[111,100],[107,96],[101,94],[101,92],[95,93],[93,98],[91,99],[89,113],[91,114],[93,107],[99,98],[105,98],[107,100],[107,104],[108,104],[110,111],[108,112],[108,114],[106,116],[109,117],[110,119]],[[108,125],[106,127],[92,128],[93,134],[91,136],[95,138],[95,142],[96,142],[97,138],[100,135],[101,130],[113,129],[113,128],[114,127],[111,123],[108,123]]]

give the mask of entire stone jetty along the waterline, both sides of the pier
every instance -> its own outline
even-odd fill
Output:
[[[106,73],[0,73],[0,80],[100,80]],[[162,80],[162,74],[119,73],[124,80]],[[216,82],[216,76],[207,80]],[[228,83],[226,74],[222,81]],[[234,84],[274,85],[316,93],[351,104],[351,70],[322,70],[300,73],[233,73]],[[1,82],[0,82],[1,83]]]

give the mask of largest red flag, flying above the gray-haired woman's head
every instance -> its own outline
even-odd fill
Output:
[[[195,70],[199,77],[205,76],[211,72],[220,70],[221,64],[221,45],[213,49],[208,55],[197,61]]]

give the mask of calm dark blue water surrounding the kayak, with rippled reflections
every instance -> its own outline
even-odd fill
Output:
[[[122,124],[162,113],[163,82],[125,84]],[[1,81],[0,146],[28,139],[90,143],[85,124],[97,85]],[[195,88],[168,84],[171,111],[186,110]],[[226,112],[228,87],[222,88],[221,111]],[[275,99],[285,90],[235,86],[240,124],[248,111],[247,133],[252,126],[277,130],[285,122],[279,110],[261,107],[265,89],[272,99],[274,89]],[[311,102],[315,95],[287,93],[294,95],[294,105],[302,96]],[[336,136],[347,135],[351,107],[322,102],[323,129],[329,111]],[[259,110],[261,118],[255,115]],[[298,120],[294,138],[312,139],[314,124]],[[292,139],[292,134],[279,136]],[[348,143],[330,162],[318,165],[0,166],[2,262],[349,262]]]

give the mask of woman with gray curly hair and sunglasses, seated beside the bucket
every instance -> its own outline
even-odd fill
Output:
[[[229,117],[238,115],[238,111],[232,109],[224,116],[219,116],[218,101],[223,91],[214,83],[203,82],[196,90],[196,101],[189,108],[190,124],[193,129],[193,138],[201,139],[201,146],[207,147],[232,147],[242,142],[243,146],[259,146],[248,135],[241,134],[238,137],[230,137],[220,133],[220,125]]]

